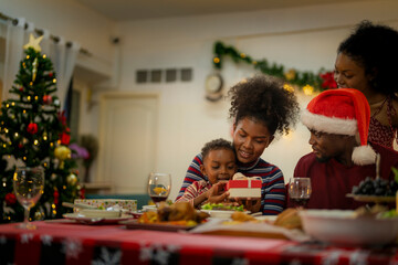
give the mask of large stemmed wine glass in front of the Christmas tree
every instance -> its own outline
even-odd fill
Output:
[[[29,222],[29,214],[44,192],[44,169],[18,167],[13,176],[13,190],[17,200],[24,208],[24,222],[19,227],[34,230],[35,225]]]

